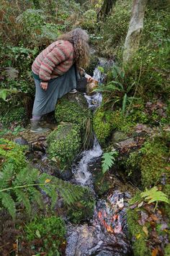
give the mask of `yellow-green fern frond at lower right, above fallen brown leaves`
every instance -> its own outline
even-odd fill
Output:
[[[148,203],[156,202],[156,207],[158,205],[158,201],[169,203],[169,199],[164,192],[158,190],[158,187],[152,187],[151,189],[146,189],[145,192],[140,193],[141,197],[145,197],[144,200],[148,201]]]

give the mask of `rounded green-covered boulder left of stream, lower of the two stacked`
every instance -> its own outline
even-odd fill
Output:
[[[79,153],[81,137],[76,124],[62,124],[48,136],[48,155],[61,170],[68,168]]]

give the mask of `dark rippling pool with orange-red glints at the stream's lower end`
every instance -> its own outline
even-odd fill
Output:
[[[123,207],[123,194],[114,192],[107,200],[97,202],[91,226],[69,226],[66,256],[131,256]]]

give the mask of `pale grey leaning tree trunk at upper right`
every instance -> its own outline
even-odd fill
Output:
[[[123,51],[123,64],[128,64],[138,50],[148,0],[133,0],[133,11]]]

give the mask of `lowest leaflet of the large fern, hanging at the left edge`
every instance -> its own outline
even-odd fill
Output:
[[[0,192],[0,200],[1,205],[6,208],[6,210],[9,211],[9,214],[12,216],[12,218],[15,218],[16,216],[16,208],[15,208],[15,202],[12,199],[11,195],[9,195],[6,192]]]

